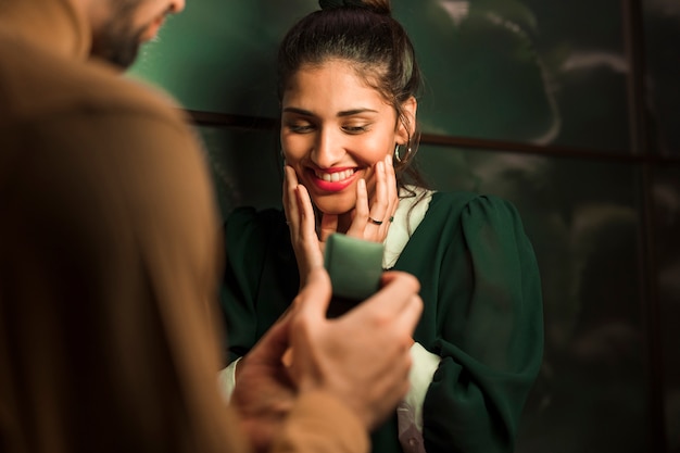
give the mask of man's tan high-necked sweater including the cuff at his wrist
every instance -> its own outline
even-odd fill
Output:
[[[247,452],[204,155],[165,97],[86,61],[70,1],[0,0],[0,450]],[[367,445],[315,393],[275,451]]]

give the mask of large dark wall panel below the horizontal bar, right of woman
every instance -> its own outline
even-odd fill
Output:
[[[517,451],[645,451],[634,167],[427,146],[419,161],[436,188],[513,201],[533,242],[545,355]]]

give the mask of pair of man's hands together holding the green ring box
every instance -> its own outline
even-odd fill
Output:
[[[382,286],[344,316],[328,319],[330,279],[316,267],[291,310],[241,358],[231,404],[255,451],[269,448],[305,391],[335,395],[367,430],[394,411],[408,391],[408,351],[423,301],[408,274],[386,273]]]

